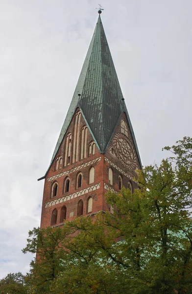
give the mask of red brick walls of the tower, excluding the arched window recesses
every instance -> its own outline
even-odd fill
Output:
[[[74,123],[75,115],[79,111],[76,109],[76,112],[72,118],[66,134],[69,132],[72,133],[72,147],[73,150],[73,135],[74,135]],[[122,118],[126,120],[125,114],[122,115]],[[127,121],[127,120],[126,120]],[[85,121],[81,115],[80,119],[80,130],[85,125]],[[120,123],[115,130],[115,134],[120,133]],[[128,130],[130,135],[130,130]],[[43,203],[42,203],[42,217],[41,217],[41,227],[47,227],[50,225],[51,214],[53,209],[57,209],[57,223],[60,223],[60,213],[61,208],[65,205],[67,208],[66,220],[73,220],[77,216],[77,204],[80,199],[83,200],[83,215],[94,214],[100,210],[106,211],[109,209],[105,202],[105,193],[107,189],[113,188],[116,192],[119,192],[119,175],[121,175],[123,180],[123,186],[127,188],[127,184],[131,181],[132,187],[137,187],[136,183],[132,180],[135,176],[135,172],[125,169],[123,164],[110,153],[110,148],[113,146],[113,139],[109,144],[109,147],[106,151],[106,154],[101,154],[96,147],[95,154],[87,156],[84,159],[80,160],[81,152],[81,136],[79,138],[79,148],[78,148],[78,158],[79,160],[75,163],[72,163],[72,151],[71,151],[71,161],[70,164],[64,167],[64,153],[66,147],[66,137],[64,137],[63,142],[61,143],[58,152],[53,160],[52,165],[50,166],[47,176],[45,178],[44,185],[44,194],[43,194]],[[133,140],[130,136],[130,141],[133,143]],[[89,154],[89,143],[93,141],[93,137],[88,129],[87,134],[87,154]],[[60,170],[55,170],[55,160],[58,156],[62,156],[63,163]],[[107,159],[108,161],[107,161]],[[137,159],[138,166],[139,161]],[[112,164],[113,165],[112,165]],[[91,167],[95,168],[95,180],[94,183],[89,184],[89,171]],[[108,171],[112,167],[114,172],[113,186],[109,184]],[[82,186],[77,189],[76,179],[77,174],[82,172]],[[63,185],[66,177],[70,178],[70,190],[67,193],[64,193]],[[51,187],[54,182],[58,183],[57,195],[51,198]],[[105,184],[105,186],[104,186]],[[107,184],[107,186],[106,186]],[[106,188],[108,187],[108,188]],[[88,198],[93,197],[93,209],[91,213],[87,213],[88,209]]]

